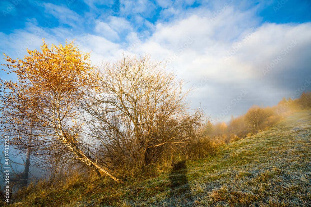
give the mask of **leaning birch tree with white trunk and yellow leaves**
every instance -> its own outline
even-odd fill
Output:
[[[12,144],[25,145],[31,137],[33,152],[40,156],[58,153],[72,156],[84,165],[114,180],[86,149],[79,138],[83,123],[78,121],[78,103],[86,90],[96,90],[89,53],[79,52],[74,43],[53,45],[43,40],[41,52],[27,50],[24,59],[5,55],[9,73],[18,81],[0,79],[1,131]],[[65,157],[67,159],[67,157]]]

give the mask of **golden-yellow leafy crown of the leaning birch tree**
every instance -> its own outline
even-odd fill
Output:
[[[93,87],[94,75],[88,60],[90,54],[77,51],[77,46],[67,43],[65,46],[49,46],[43,39],[41,51],[27,49],[29,56],[24,59],[12,60],[4,54],[5,65],[10,73],[16,74],[18,82],[0,79],[3,95],[0,101],[5,110],[6,124],[20,125],[25,120],[32,121],[42,128],[51,127],[51,121],[57,115],[60,119],[71,120],[77,114],[74,108],[83,97],[84,91]],[[55,103],[58,105],[55,105]],[[55,112],[58,111],[59,113]],[[24,116],[23,119],[10,117]],[[69,119],[68,119],[69,118]],[[25,120],[24,120],[25,119]],[[53,122],[52,122],[53,123]],[[3,120],[3,124],[4,120]],[[71,133],[79,131],[81,125],[73,120]],[[78,135],[72,135],[76,140]]]

